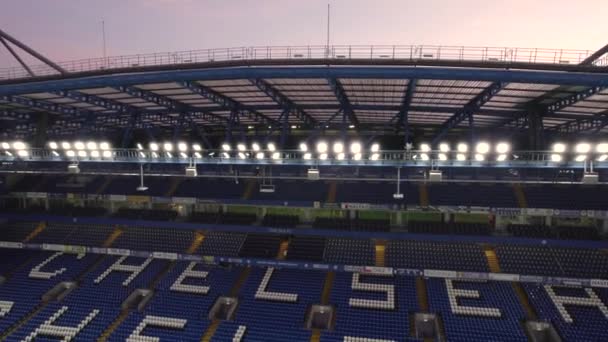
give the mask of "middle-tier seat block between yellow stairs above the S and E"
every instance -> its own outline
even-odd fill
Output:
[[[479,245],[470,243],[388,241],[386,265],[399,268],[488,272],[483,250]]]

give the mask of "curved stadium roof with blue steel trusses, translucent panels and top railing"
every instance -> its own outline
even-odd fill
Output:
[[[608,132],[608,56],[440,47],[252,47],[0,69],[9,137],[133,129]],[[409,133],[407,133],[409,134]]]

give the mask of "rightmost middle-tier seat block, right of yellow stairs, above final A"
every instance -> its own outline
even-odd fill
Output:
[[[608,254],[596,249],[499,245],[496,255],[506,273],[608,278]]]

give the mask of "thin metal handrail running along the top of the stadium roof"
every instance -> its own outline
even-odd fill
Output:
[[[487,63],[580,64],[592,50],[442,45],[305,45],[233,47],[79,59],[57,63],[70,73],[150,66],[255,60],[436,60]],[[593,63],[608,66],[608,54]],[[36,76],[56,75],[47,65],[31,66]],[[0,68],[0,80],[31,77],[22,67]]]

